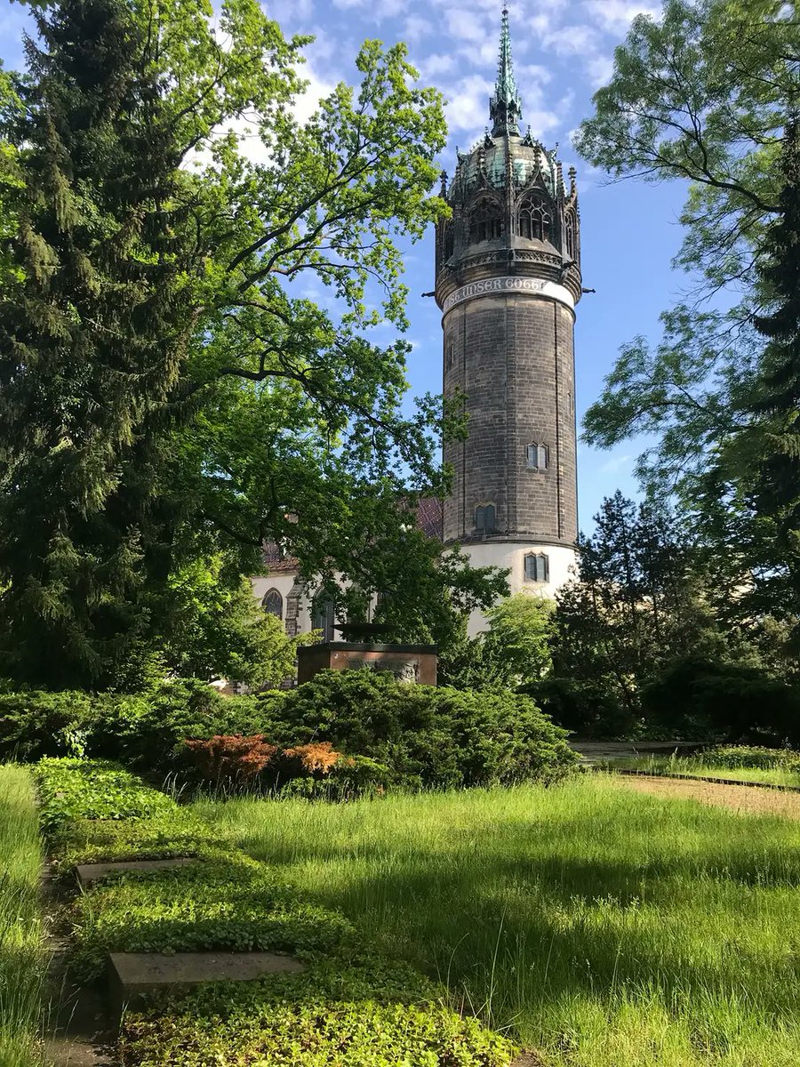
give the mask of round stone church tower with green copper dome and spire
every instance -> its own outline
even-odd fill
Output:
[[[512,592],[551,595],[575,560],[575,306],[580,224],[575,171],[523,131],[508,10],[491,127],[458,154],[436,229],[444,394],[463,398],[468,437],[445,446],[453,471],[445,543],[475,566],[509,568]]]

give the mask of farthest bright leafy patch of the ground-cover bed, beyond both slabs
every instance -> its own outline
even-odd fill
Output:
[[[42,760],[36,781],[39,819],[48,831],[73,818],[145,819],[175,807],[134,775],[98,760]]]

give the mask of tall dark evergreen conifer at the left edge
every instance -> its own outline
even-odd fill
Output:
[[[123,0],[35,15],[21,145],[22,271],[0,299],[0,668],[113,683],[169,570],[163,469],[191,334],[179,156]]]

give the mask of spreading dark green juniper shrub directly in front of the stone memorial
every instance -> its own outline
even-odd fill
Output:
[[[278,744],[330,740],[387,767],[395,785],[557,778],[575,760],[564,731],[529,698],[502,690],[460,692],[405,685],[380,671],[322,671],[267,702]]]

